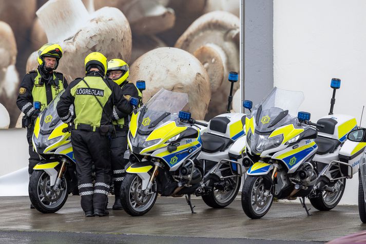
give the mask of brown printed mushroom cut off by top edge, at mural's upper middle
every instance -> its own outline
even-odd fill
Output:
[[[175,13],[166,8],[170,0],[98,0],[95,9],[116,7],[126,15],[134,35],[156,34],[174,26]]]

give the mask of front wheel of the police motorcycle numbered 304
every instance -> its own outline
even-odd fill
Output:
[[[137,174],[126,174],[121,184],[123,210],[131,216],[141,216],[150,211],[157,200],[158,185],[154,180],[148,193],[142,189],[142,179]]]

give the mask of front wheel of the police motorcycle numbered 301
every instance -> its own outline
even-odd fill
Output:
[[[263,217],[273,202],[272,181],[267,176],[247,176],[241,193],[241,206],[252,219]]]

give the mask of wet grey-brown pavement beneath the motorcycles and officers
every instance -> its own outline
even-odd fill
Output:
[[[109,196],[109,207],[113,201]],[[263,218],[253,220],[244,214],[240,198],[224,209],[211,209],[198,197],[192,203],[196,214],[184,198],[159,197],[144,216],[110,210],[106,217],[85,218],[79,196],[69,196],[55,214],[29,209],[28,197],[0,197],[0,242],[323,243],[366,230],[354,205],[312,209],[307,216],[298,203],[274,202]]]

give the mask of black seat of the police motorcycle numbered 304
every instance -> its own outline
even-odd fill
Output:
[[[204,133],[201,136],[202,151],[206,153],[223,152],[225,148],[233,143],[230,138],[220,137],[210,133]]]

